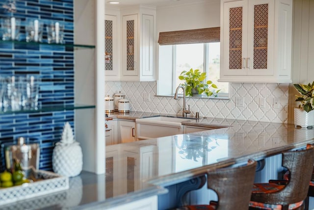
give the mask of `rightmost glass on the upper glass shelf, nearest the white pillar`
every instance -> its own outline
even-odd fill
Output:
[[[64,26],[54,22],[46,27],[48,43],[63,44]]]

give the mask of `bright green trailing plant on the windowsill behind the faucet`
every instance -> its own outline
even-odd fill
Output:
[[[201,72],[199,69],[193,70],[191,68],[189,71],[183,71],[179,79],[184,81],[184,83],[180,85],[185,88],[186,96],[206,94],[207,96],[213,95],[217,97],[217,93],[220,91],[209,90],[210,88],[217,89],[217,86],[210,80],[205,81],[206,72]]]

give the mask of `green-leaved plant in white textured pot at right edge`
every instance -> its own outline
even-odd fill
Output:
[[[308,85],[293,84],[293,86],[301,94],[295,95],[295,101],[300,102],[300,105],[298,108],[294,108],[294,125],[314,126],[314,82]]]

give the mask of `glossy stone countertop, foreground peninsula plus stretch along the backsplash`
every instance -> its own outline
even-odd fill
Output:
[[[114,113],[108,117],[135,120],[149,116],[167,115],[131,112],[123,115]],[[189,180],[217,167],[245,162],[249,158],[261,160],[285,150],[314,143],[314,129],[298,129],[293,124],[214,118],[187,119],[182,124],[226,127],[107,146],[106,153],[113,152],[114,162],[110,164],[110,161],[106,161],[105,175],[82,172],[79,177],[70,179],[70,189],[65,191],[65,195],[51,194],[27,202],[33,204],[40,202],[40,199],[51,198],[56,204],[42,207],[46,210],[64,207],[79,210],[114,207],[166,193],[163,186]],[[149,178],[145,178],[147,169],[141,167],[141,163],[145,163],[147,159],[140,154],[146,151],[153,153],[150,162],[153,173]],[[133,164],[135,167],[131,168],[126,164],[126,157],[130,152],[137,152],[139,158]],[[55,198],[57,195],[59,197]],[[16,205],[22,203],[26,204],[19,202]]]

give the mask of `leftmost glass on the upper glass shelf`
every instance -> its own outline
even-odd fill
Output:
[[[17,40],[20,36],[21,19],[10,17],[0,19],[2,40]]]

